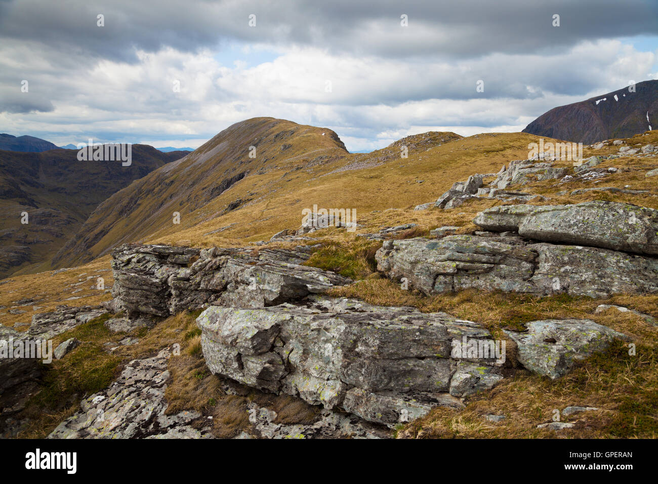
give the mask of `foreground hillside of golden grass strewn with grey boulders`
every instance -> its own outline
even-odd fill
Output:
[[[528,134],[423,138],[365,167],[329,146],[263,173],[278,203],[223,211],[245,175],[149,243],[0,281],[0,337],[55,350],[2,362],[3,435],[655,436],[658,134],[576,166]],[[313,200],[356,225],[302,223]]]

